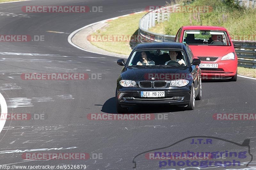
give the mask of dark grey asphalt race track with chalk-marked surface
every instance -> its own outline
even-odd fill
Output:
[[[193,111],[168,106],[131,109],[132,113],[154,113],[156,116],[167,114],[167,120],[87,119],[90,113],[116,113],[115,86],[121,66],[116,64],[116,57],[92,54],[71,46],[68,35],[97,21],[144,11],[146,6],[164,4],[163,0],[35,0],[0,4],[1,35],[44,35],[44,41],[39,42],[0,43],[0,92],[6,100],[8,113],[44,114],[44,120],[5,122],[0,133],[0,164],[55,167],[86,165],[86,169],[132,169],[132,160],[136,155],[192,136],[219,137],[238,144],[250,139],[250,153],[254,160],[255,121],[216,121],[212,117],[215,113],[255,113],[256,81],[252,79],[238,77],[237,82],[203,82],[202,100],[196,101]],[[102,6],[103,12],[23,13],[21,7],[26,5]],[[21,73],[74,72],[89,75],[98,73],[102,78],[86,81],[36,81],[20,78]],[[193,138],[196,140],[196,137]],[[187,140],[189,143],[182,141],[176,144],[175,151],[201,147],[200,144],[190,144],[191,139]],[[243,150],[240,148],[242,146],[220,139],[212,139],[212,144],[205,144],[204,147],[213,151]],[[48,148],[48,151],[44,148]],[[91,158],[92,155],[94,158],[98,155],[100,159],[26,160],[22,157],[24,153],[42,152],[89,153]],[[138,157],[135,158],[137,169],[184,167],[159,167],[157,161]],[[251,169],[256,169],[253,168],[254,164],[249,164]],[[245,166],[232,168],[242,169]],[[225,168],[215,166],[211,169]]]

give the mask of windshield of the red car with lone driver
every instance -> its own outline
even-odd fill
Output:
[[[188,45],[230,46],[225,31],[187,30],[184,32],[182,42]]]

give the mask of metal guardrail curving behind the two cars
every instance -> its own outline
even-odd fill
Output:
[[[162,7],[165,8],[165,7]],[[140,19],[138,35],[144,37],[140,42],[159,42],[174,41],[175,35],[164,35],[148,31],[149,28],[155,26],[156,23],[164,22],[170,17],[170,12],[159,12],[165,10],[155,9],[149,11]],[[163,30],[164,32],[164,30]],[[238,57],[238,66],[256,68],[256,42],[255,41],[238,41],[233,40],[233,44],[241,44],[241,48],[236,50]]]

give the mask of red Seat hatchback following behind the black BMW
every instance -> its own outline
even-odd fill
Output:
[[[226,28],[219,26],[182,26],[175,37],[176,42],[187,43],[194,58],[201,63],[202,79],[237,79],[237,55]]]

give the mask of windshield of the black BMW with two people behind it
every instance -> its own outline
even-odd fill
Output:
[[[132,53],[128,67],[132,66],[187,66],[185,53],[179,49],[147,49]]]

